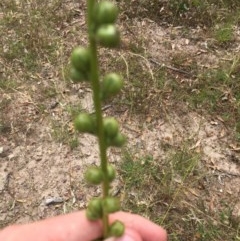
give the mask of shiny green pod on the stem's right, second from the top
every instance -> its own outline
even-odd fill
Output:
[[[120,34],[113,24],[101,25],[97,30],[96,38],[106,48],[117,47],[120,43]]]

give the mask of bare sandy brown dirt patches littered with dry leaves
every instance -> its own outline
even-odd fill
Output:
[[[150,58],[142,60],[149,70],[156,64],[169,67],[171,56],[177,51],[195,55],[201,68],[212,68],[218,66],[220,58],[227,59],[240,50],[237,31],[238,44],[232,47],[231,52],[217,52],[209,51],[208,45],[213,40],[204,39],[201,29],[192,29],[192,33],[188,34],[192,37],[187,38],[182,36],[180,27],[162,27],[147,19],[134,19],[132,26],[134,34],[143,38],[149,36],[146,47]],[[124,26],[121,28],[123,39],[127,42],[128,35],[132,33]],[[121,54],[126,53],[121,51],[126,50],[120,50]],[[175,70],[169,68],[169,71]],[[47,88],[48,84],[43,79],[39,81]],[[9,120],[0,136],[0,227],[84,208],[92,195],[101,192],[98,188],[91,188],[89,192],[83,180],[86,166],[98,163],[95,138],[79,136],[80,144],[72,150],[69,145],[56,141],[56,130],[53,128],[53,123],[60,122],[60,129],[67,129],[70,135],[74,135],[71,117],[65,107],[79,101],[80,97],[83,109],[91,111],[91,92],[85,86],[72,86],[63,91],[65,84],[61,78],[49,77],[48,81],[55,82],[58,96],[57,99],[44,100],[48,106],[44,112],[39,110],[28,92],[28,89],[38,88],[37,83],[31,86],[23,84],[10,93],[0,90],[1,101],[8,103],[1,115]],[[181,81],[191,82],[194,79],[182,78]],[[233,141],[233,131],[220,117],[185,110],[183,104],[181,110],[171,108],[168,118],[158,115],[144,120],[130,115],[127,109],[119,114],[111,105],[104,112],[120,120],[129,139],[128,147],[138,148],[139,156],[150,153],[154,159],[163,158],[165,150],[162,143],[177,147],[191,140],[192,150],[202,155],[199,165],[204,166],[209,174],[205,183],[208,195],[203,197],[200,189],[192,190],[193,199],[204,198],[206,210],[212,212],[218,210],[221,200],[229,200],[228,204],[233,207],[232,215],[239,220],[240,147]],[[119,162],[120,154],[120,151],[113,150],[110,161]],[[116,192],[121,191],[122,185],[120,180],[116,182]]]

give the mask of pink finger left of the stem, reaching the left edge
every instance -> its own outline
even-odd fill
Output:
[[[90,222],[85,211],[61,215],[0,232],[4,241],[92,241],[102,235],[99,221]]]

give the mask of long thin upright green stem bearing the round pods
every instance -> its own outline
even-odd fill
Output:
[[[100,97],[100,81],[99,81],[99,67],[97,58],[97,44],[94,37],[94,23],[92,21],[92,13],[94,9],[95,0],[87,1],[87,24],[88,24],[88,37],[89,47],[91,52],[91,84],[93,89],[93,102],[96,113],[97,130],[98,130],[98,145],[100,150],[101,169],[104,173],[104,179],[102,184],[103,198],[108,196],[109,192],[109,181],[107,178],[107,146],[105,142],[104,129],[103,129],[103,116],[102,116],[102,105]],[[103,236],[104,238],[108,235],[108,214],[103,212]]]

